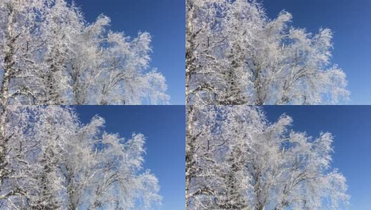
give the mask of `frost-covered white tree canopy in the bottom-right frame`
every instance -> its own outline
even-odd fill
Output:
[[[186,209],[341,209],[346,179],[332,169],[330,133],[289,130],[252,106],[188,106]]]

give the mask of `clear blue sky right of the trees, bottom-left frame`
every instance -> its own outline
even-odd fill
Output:
[[[126,139],[134,132],[146,139],[145,169],[160,181],[164,210],[184,209],[186,157],[185,106],[75,106],[82,123],[98,114],[105,130]]]

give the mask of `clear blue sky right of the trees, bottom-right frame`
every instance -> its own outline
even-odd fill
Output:
[[[271,122],[287,113],[294,120],[292,130],[313,137],[332,133],[332,167],[347,179],[350,209],[370,209],[371,106],[265,106],[264,111]]]

